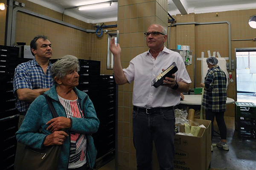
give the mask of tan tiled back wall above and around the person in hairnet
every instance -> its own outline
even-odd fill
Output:
[[[207,23],[228,21],[231,26],[231,59],[235,60],[235,48],[256,47],[256,41],[252,40],[253,37],[256,37],[256,29],[250,28],[248,25],[250,16],[254,14],[255,9],[250,9],[218,13],[212,12],[206,14],[177,14],[176,16],[172,17],[175,18],[177,23]],[[251,40],[233,41],[241,39]],[[201,60],[197,60],[197,58],[201,57],[201,52],[204,52],[204,57],[208,57],[208,50],[211,51],[211,55],[213,54],[213,51],[218,51],[221,57],[229,57],[228,24],[189,24],[171,27],[171,39],[169,44],[170,49],[176,49],[177,44],[190,45],[190,50],[192,50],[193,55],[193,62],[192,65],[188,65],[186,67],[187,71],[189,72],[189,76],[192,79],[190,88],[200,87]],[[227,62],[229,62],[229,60],[227,60]],[[227,88],[227,96],[236,100],[236,72],[235,70],[231,72],[234,82],[229,83]],[[234,116],[234,109],[234,104],[228,104],[225,116]]]

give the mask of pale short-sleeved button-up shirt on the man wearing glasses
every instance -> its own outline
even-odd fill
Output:
[[[130,61],[124,74],[129,83],[134,81],[132,104],[140,108],[158,108],[175,106],[180,103],[180,92],[160,85],[158,88],[151,86],[151,81],[157,77],[162,68],[168,68],[175,62],[178,71],[175,79],[178,82],[191,83],[185,64],[179,53],[163,48],[154,59],[149,50],[139,54]]]

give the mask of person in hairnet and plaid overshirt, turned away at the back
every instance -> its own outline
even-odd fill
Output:
[[[221,141],[217,146],[224,150],[229,150],[227,144],[227,126],[224,121],[227,100],[227,77],[224,71],[217,65],[218,59],[208,57],[206,62],[209,70],[204,78],[204,83],[200,83],[201,87],[204,88],[202,108],[205,110],[206,119],[212,121],[212,135],[214,117],[216,117],[221,135]]]

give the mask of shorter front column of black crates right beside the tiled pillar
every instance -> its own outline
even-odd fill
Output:
[[[93,134],[93,139],[98,157],[102,157],[105,154],[113,155],[115,150],[116,83],[113,76],[101,75],[99,85],[99,98],[93,104],[100,124],[98,132]]]

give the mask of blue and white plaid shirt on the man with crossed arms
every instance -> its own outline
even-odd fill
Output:
[[[18,111],[26,112],[29,108],[30,103],[20,101],[17,97],[17,89],[29,88],[51,88],[52,87],[52,76],[51,76],[51,62],[47,68],[46,74],[35,59],[28,62],[19,64],[15,68],[15,74],[13,79],[13,92],[16,97],[15,105]]]

